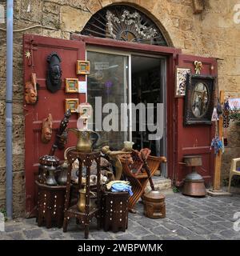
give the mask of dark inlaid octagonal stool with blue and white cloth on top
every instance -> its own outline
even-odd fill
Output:
[[[104,231],[125,232],[128,222],[128,197],[128,192],[103,191],[102,226]]]

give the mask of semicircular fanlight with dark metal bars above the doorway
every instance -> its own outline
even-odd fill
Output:
[[[81,34],[168,46],[158,26],[146,14],[131,6],[114,5],[98,10],[86,23]]]

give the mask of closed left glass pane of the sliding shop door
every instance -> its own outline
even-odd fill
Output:
[[[102,142],[119,150],[130,140],[130,118],[122,103],[130,102],[129,61],[127,55],[87,51],[90,74],[87,76],[87,102],[93,106],[93,129]]]

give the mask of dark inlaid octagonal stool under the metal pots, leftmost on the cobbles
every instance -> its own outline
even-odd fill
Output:
[[[47,186],[37,181],[35,183],[38,189],[36,218],[38,226],[46,224],[48,229],[52,226],[61,228],[66,186]]]

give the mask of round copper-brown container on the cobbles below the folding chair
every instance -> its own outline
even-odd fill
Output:
[[[148,218],[165,218],[165,195],[158,190],[152,190],[142,196],[144,215]]]

